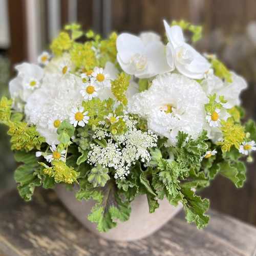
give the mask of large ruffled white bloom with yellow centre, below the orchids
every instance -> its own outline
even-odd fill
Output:
[[[201,86],[179,74],[157,76],[152,86],[135,94],[128,111],[147,119],[148,128],[175,144],[179,131],[197,138],[205,122],[207,97]]]

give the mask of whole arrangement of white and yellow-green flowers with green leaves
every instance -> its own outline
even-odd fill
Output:
[[[100,231],[128,220],[138,195],[151,213],[163,198],[181,203],[203,228],[209,201],[197,191],[216,175],[243,186],[240,158],[251,162],[256,150],[255,123],[241,122],[246,81],[187,43],[183,32],[193,43],[201,27],[164,27],[163,42],[153,32],[102,39],[68,25],[38,65],[16,66],[0,121],[23,163],[15,180],[26,201],[37,186],[76,184],[77,200],[96,201],[88,218]]]

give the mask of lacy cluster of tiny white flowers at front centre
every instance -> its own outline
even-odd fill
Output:
[[[130,168],[137,160],[145,165],[150,162],[151,156],[149,149],[156,147],[157,136],[152,132],[142,132],[135,128],[136,121],[124,117],[127,120],[127,132],[108,140],[106,147],[98,144],[91,144],[91,150],[88,154],[88,163],[92,165],[101,164],[103,167],[115,169],[115,179],[125,179],[130,173]],[[101,131],[101,132],[100,132]],[[96,131],[96,137],[110,134],[103,130]],[[102,138],[101,137],[101,138]]]

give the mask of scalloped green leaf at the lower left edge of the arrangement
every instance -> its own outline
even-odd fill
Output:
[[[23,162],[14,173],[14,179],[17,182],[19,195],[25,200],[30,201],[34,193],[34,189],[41,185],[36,170],[39,165],[34,153],[18,151],[15,153],[15,160]]]

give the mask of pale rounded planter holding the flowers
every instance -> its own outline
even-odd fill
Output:
[[[131,203],[132,212],[128,221],[119,222],[117,227],[108,232],[99,232],[96,224],[87,219],[95,203],[93,200],[78,201],[74,196],[74,191],[66,190],[63,185],[56,187],[56,193],[83,226],[104,239],[116,241],[133,241],[150,236],[172,219],[182,208],[182,205],[174,207],[164,199],[159,201],[160,207],[156,209],[154,214],[150,214],[146,196],[139,196]]]

